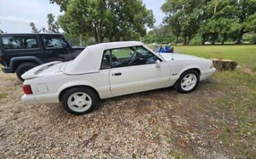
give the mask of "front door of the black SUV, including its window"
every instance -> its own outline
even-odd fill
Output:
[[[66,62],[72,59],[72,49],[62,35],[42,35],[42,39],[48,56],[45,62]]]

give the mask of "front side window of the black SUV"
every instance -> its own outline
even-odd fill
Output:
[[[61,36],[45,35],[43,40],[46,48],[64,48],[67,46],[66,41]]]

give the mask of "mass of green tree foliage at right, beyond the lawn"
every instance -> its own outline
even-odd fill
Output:
[[[183,44],[189,44],[197,33],[202,44],[206,39],[214,44],[219,36],[222,44],[228,38],[241,43],[246,32],[256,30],[255,0],[166,0],[162,10],[167,15],[164,23],[177,40],[183,37]]]

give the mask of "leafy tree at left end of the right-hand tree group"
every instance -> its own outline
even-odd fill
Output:
[[[161,7],[167,15],[165,22],[172,27],[176,39],[183,37],[183,44],[189,44],[199,29],[201,3],[199,0],[167,0]]]

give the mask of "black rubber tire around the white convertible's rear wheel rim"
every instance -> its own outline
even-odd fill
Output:
[[[74,111],[68,106],[68,98],[73,95],[74,93],[86,93],[91,97],[91,106],[86,111]],[[95,91],[91,88],[71,88],[68,91],[62,95],[62,106],[68,113],[74,114],[74,115],[83,115],[85,113],[90,113],[93,111],[94,107],[98,103],[98,95],[95,93]]]

